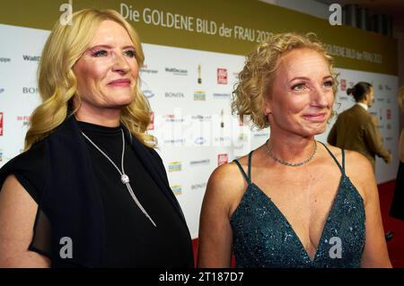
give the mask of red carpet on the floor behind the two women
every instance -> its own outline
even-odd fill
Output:
[[[394,237],[387,243],[391,264],[394,268],[404,268],[404,221],[396,220],[389,216],[394,186],[395,180],[381,184],[378,188],[384,231],[394,232]],[[197,261],[198,238],[192,240],[192,244],[194,246],[195,261]]]

